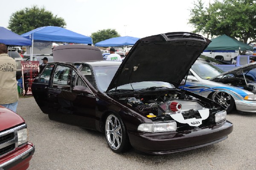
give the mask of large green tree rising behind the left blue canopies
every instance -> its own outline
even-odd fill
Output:
[[[66,22],[63,18],[54,16],[44,7],[40,9],[38,6],[32,6],[32,8],[25,8],[13,13],[9,20],[8,29],[21,35],[42,26],[64,27]]]

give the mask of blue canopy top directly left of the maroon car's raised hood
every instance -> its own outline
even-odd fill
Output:
[[[133,46],[140,38],[136,37],[114,37],[108,40],[100,41],[95,46],[109,47],[109,46]]]

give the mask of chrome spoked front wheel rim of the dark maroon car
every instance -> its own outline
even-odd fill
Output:
[[[106,119],[105,134],[111,149],[118,150],[122,143],[122,127],[115,115],[111,114]]]

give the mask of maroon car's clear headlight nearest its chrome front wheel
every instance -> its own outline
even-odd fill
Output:
[[[142,132],[158,133],[158,132],[171,132],[177,130],[177,124],[173,122],[164,123],[145,123],[138,126],[138,130]]]

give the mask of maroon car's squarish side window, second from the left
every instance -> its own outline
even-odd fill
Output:
[[[53,85],[70,86],[70,68],[67,66],[57,66],[53,76]]]

